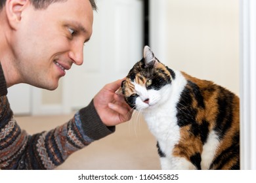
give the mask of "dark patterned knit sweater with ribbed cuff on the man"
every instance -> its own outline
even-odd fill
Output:
[[[102,124],[92,101],[68,123],[28,135],[12,114],[0,63],[0,169],[54,169],[73,152],[114,131],[114,126]]]

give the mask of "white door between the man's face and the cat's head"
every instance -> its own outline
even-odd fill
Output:
[[[108,82],[124,78],[142,58],[143,2],[98,0],[93,35],[84,47],[84,62],[64,78],[64,105],[85,107]]]

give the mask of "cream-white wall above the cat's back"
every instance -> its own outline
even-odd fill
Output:
[[[239,94],[238,0],[152,0],[150,12],[158,59]]]

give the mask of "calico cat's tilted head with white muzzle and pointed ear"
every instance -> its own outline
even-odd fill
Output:
[[[137,110],[158,107],[166,99],[175,73],[160,63],[148,46],[121,84],[121,92],[130,107]]]

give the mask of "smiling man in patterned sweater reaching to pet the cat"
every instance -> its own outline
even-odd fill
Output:
[[[54,169],[70,154],[131,118],[131,108],[107,84],[70,122],[28,135],[12,115],[7,88],[27,83],[54,90],[72,64],[83,63],[92,34],[94,0],[0,2],[0,169]]]

